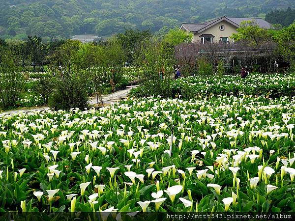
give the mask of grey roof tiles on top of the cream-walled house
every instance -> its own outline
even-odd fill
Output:
[[[233,18],[233,17],[220,17],[217,19],[213,19],[210,21],[207,21],[205,23],[183,23],[182,26],[184,26],[186,29],[188,29],[189,31],[199,31],[202,28],[207,27],[208,25],[211,25],[212,23],[216,22],[217,20],[221,20],[222,18],[227,18],[229,20],[231,20],[232,22],[234,22],[236,25],[240,25],[242,21],[251,21],[254,20],[259,26],[260,28],[271,28],[271,24],[269,24],[268,22],[266,22],[264,19],[261,18]]]

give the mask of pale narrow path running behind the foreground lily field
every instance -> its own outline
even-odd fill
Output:
[[[102,95],[102,101],[104,104],[113,104],[113,103],[116,103],[120,100],[123,100],[125,98],[127,98],[127,95],[129,93],[129,91],[132,89],[132,88],[136,88],[138,87],[138,85],[134,85],[134,86],[127,86],[126,89],[124,90],[118,90],[113,94],[105,94],[105,95]],[[113,99],[113,96],[114,96],[114,99]],[[89,98],[89,106],[93,106],[97,103],[97,99],[96,97],[90,97]],[[4,114],[14,114],[14,113],[20,113],[20,112],[23,112],[23,113],[27,113],[27,112],[34,112],[34,111],[47,111],[49,110],[50,108],[49,107],[36,107],[36,108],[31,108],[31,109],[25,109],[25,110],[13,110],[13,111],[5,111],[5,112],[1,112],[0,113],[0,117],[1,115],[4,115]]]

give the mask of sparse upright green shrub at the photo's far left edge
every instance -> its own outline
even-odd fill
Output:
[[[0,48],[0,105],[15,107],[24,88],[21,52],[18,48]]]

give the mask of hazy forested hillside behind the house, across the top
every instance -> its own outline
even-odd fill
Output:
[[[106,36],[125,28],[165,31],[223,15],[264,18],[293,5],[294,0],[2,0],[0,38]]]

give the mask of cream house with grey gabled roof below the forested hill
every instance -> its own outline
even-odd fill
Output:
[[[192,32],[192,42],[200,43],[213,43],[213,42],[227,42],[233,43],[234,39],[231,39],[233,33],[236,33],[236,29],[239,28],[243,21],[253,21],[261,28],[271,28],[271,24],[261,18],[232,18],[232,17],[220,17],[207,21],[205,23],[182,23],[179,29],[187,32]]]

